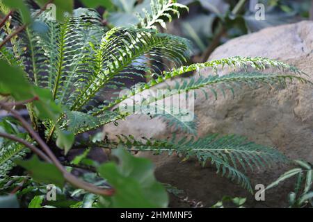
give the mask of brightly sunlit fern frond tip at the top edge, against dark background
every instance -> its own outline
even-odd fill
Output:
[[[145,17],[138,15],[139,20],[141,21],[141,28],[154,28],[157,29],[157,24],[161,25],[163,28],[166,28],[166,21],[163,17],[166,17],[169,22],[172,21],[172,14],[179,17],[179,9],[184,8],[189,10],[187,6],[184,6],[180,3],[177,3],[176,0],[152,0],[150,2],[151,12],[143,9],[145,12]]]

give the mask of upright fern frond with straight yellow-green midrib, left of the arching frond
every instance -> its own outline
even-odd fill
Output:
[[[86,56],[86,47],[95,38],[104,33],[99,14],[94,10],[79,8],[74,10],[72,17],[66,17],[65,22],[58,23],[49,17],[49,12],[43,12],[38,17],[45,27],[45,32],[36,32],[40,47],[45,51],[46,70],[41,73],[40,85],[51,90],[59,103],[64,103],[70,96],[74,80]]]

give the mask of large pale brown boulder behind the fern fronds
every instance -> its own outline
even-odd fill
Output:
[[[262,56],[281,60],[300,68],[313,81],[313,22],[266,28],[238,37],[218,47],[209,60],[230,56]],[[200,120],[200,136],[209,133],[243,135],[259,144],[275,146],[293,159],[313,162],[312,85],[294,83],[278,91],[268,88],[237,89],[234,99],[229,95],[217,101],[198,96],[195,114]],[[160,120],[138,115],[120,122],[118,127],[106,126],[104,131],[111,139],[120,133],[138,138],[165,138],[172,133]],[[190,198],[201,200],[206,206],[223,195],[249,196],[239,186],[217,176],[214,169],[202,168],[193,160],[179,163],[178,157],[164,155],[152,159],[157,165],[159,180],[184,189]],[[252,183],[268,184],[289,167],[252,173]],[[279,192],[275,189],[268,192],[265,203],[257,203],[251,196],[248,203],[250,206],[283,207],[286,206],[286,194],[290,189],[291,182],[287,182],[278,189]],[[175,199],[173,201],[173,206],[183,206]]]

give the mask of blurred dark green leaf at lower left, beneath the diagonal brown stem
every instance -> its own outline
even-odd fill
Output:
[[[31,177],[36,182],[54,184],[58,187],[63,187],[64,185],[63,174],[56,166],[47,162],[41,162],[36,155],[33,155],[30,160],[18,160],[16,163],[29,171]]]

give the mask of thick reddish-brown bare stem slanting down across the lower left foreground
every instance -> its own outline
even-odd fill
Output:
[[[38,142],[39,146],[49,156],[49,158],[51,159],[51,162],[58,168],[59,171],[61,171],[63,173],[63,176],[64,176],[65,180],[67,180],[67,182],[70,182],[75,187],[79,187],[79,188],[84,189],[86,191],[89,191],[90,193],[93,193],[93,194],[104,195],[104,196],[111,196],[114,194],[114,189],[101,189],[99,187],[96,187],[95,185],[88,183],[88,182],[84,182],[82,180],[79,180],[79,178],[77,178],[77,177],[73,176],[71,173],[67,172],[66,169],[61,164],[61,162],[58,161],[58,159],[56,158],[54,153],[51,151],[49,146],[47,146],[47,144],[41,139],[41,137],[37,133],[35,133],[35,130],[33,130],[33,128],[31,128],[31,125],[29,125],[29,123],[22,116],[20,116],[18,112],[10,109],[10,107],[8,107],[6,105],[6,103],[1,103],[1,101],[0,101],[0,105],[5,110],[10,111],[13,114],[13,116],[21,122],[21,124],[25,128],[25,130],[27,132],[29,132],[31,137],[33,137],[33,139],[35,139],[35,141]]]

